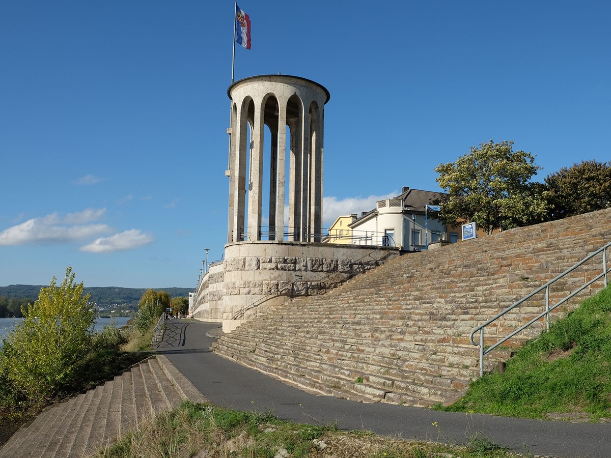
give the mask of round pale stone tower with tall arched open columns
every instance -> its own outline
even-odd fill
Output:
[[[236,81],[227,94],[232,100],[227,243],[320,242],[324,104],[329,101],[329,91],[297,76],[262,75]],[[263,151],[265,126],[271,133],[269,151]],[[269,196],[264,196],[263,164],[267,154]],[[287,191],[288,228],[285,228]],[[263,205],[269,205],[266,227],[262,225]]]

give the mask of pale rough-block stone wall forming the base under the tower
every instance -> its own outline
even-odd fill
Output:
[[[210,267],[196,291],[191,316],[221,321],[230,332],[244,320],[291,297],[313,296],[398,255],[394,247],[303,242],[235,242]],[[249,308],[249,310],[244,310]],[[241,313],[243,312],[243,313]],[[240,314],[239,319],[233,317]]]

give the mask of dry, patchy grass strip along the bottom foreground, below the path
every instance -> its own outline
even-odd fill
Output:
[[[271,413],[238,412],[183,402],[98,451],[97,458],[463,458],[516,456],[478,436],[466,445],[415,442],[364,431],[338,431],[281,421]]]

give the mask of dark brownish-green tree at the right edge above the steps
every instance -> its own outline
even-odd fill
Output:
[[[611,206],[611,161],[582,161],[545,178],[550,219],[562,219]]]

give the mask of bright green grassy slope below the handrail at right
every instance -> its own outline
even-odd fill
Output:
[[[544,418],[583,412],[611,416],[611,286],[590,297],[549,332],[519,349],[503,374],[487,374],[464,398],[440,410]]]

